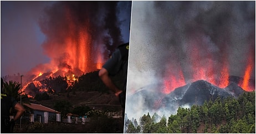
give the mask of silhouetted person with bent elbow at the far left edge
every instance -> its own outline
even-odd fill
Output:
[[[10,110],[17,110],[17,114],[10,120]],[[3,79],[1,78],[1,133],[11,133],[14,122],[17,121],[25,111],[24,107],[19,104],[13,97],[9,96],[3,90]]]

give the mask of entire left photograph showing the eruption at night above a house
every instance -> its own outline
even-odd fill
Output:
[[[1,1],[1,133],[123,133],[131,3]]]

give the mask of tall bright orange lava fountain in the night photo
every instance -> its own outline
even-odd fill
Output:
[[[65,52],[69,57],[66,63],[69,69],[79,69],[83,72],[90,71],[91,63],[91,35],[89,34],[90,25],[85,23],[84,27],[77,28],[69,9],[66,9],[66,18],[69,20],[68,38],[65,39]]]

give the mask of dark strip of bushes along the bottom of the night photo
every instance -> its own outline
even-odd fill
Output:
[[[54,122],[33,122],[27,125],[19,124],[14,127],[14,133],[123,133],[122,118],[108,118],[106,116],[91,118],[85,124]]]

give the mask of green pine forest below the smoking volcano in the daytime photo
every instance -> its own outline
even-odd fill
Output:
[[[139,121],[128,119],[125,125],[127,133],[255,133],[255,91],[238,99],[218,97],[191,109],[179,107],[168,119],[147,113]]]

